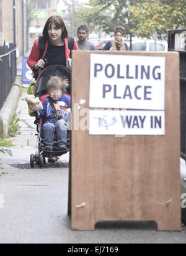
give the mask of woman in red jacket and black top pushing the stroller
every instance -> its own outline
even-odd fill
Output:
[[[35,39],[27,64],[37,78],[38,69],[50,65],[66,66],[71,58],[71,50],[78,50],[76,39],[68,36],[61,16],[51,16],[45,23],[43,36]],[[47,64],[44,59],[47,59]]]

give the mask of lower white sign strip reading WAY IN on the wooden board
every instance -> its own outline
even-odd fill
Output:
[[[164,111],[90,110],[90,135],[165,135]]]

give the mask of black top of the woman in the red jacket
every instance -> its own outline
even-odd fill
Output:
[[[58,46],[48,42],[45,58],[47,59],[47,64],[45,64],[45,67],[51,65],[66,66],[65,45]]]

